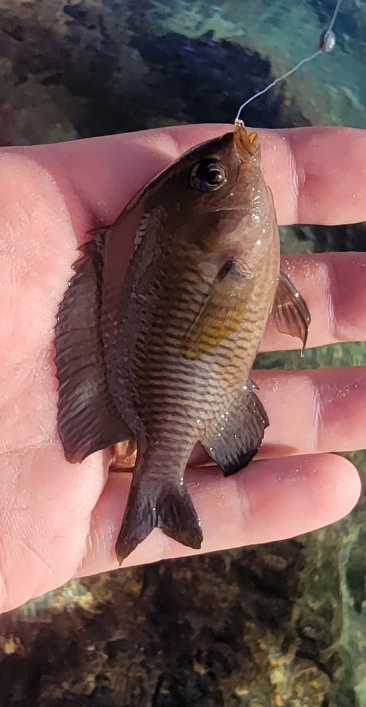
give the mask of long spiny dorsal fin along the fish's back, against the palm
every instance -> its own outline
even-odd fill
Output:
[[[83,246],[59,307],[55,327],[59,436],[69,462],[132,437],[110,396],[99,331],[102,261],[95,243]]]

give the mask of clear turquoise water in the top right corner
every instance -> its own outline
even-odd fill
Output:
[[[152,6],[147,13],[152,31],[189,37],[213,31],[216,40],[235,41],[268,57],[273,75],[280,76],[317,49],[317,40],[329,25],[335,3],[154,0]],[[333,52],[322,54],[288,78],[286,92],[313,124],[365,127],[366,6],[343,0],[333,30]],[[248,96],[243,95],[245,98]]]

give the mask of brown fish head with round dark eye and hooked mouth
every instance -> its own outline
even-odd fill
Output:
[[[165,233],[203,251],[255,243],[261,221],[273,212],[259,137],[244,127],[192,148],[159,175],[155,187],[150,206],[165,214]]]

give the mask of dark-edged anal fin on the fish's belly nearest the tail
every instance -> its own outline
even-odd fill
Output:
[[[249,464],[258,452],[268,426],[266,411],[253,387],[249,381],[228,413],[221,415],[210,434],[201,440],[211,459],[223,469],[225,477]]]

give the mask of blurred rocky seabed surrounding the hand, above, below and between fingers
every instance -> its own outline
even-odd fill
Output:
[[[350,56],[365,13],[348,8],[337,66],[354,66],[355,80],[329,83],[328,100],[315,100],[314,70],[254,102],[248,124],[365,121]],[[296,40],[306,49],[296,27],[316,36],[332,9],[326,0],[0,0],[0,144],[230,122],[244,97],[295,63]],[[284,17],[293,32],[281,47]],[[319,69],[324,85],[330,66]],[[283,250],[364,250],[365,235],[364,224],[284,229]],[[364,360],[355,344],[258,365]],[[363,452],[353,459],[365,472]],[[30,602],[0,619],[0,707],[365,706],[365,519],[362,500],[308,537],[101,575]]]

